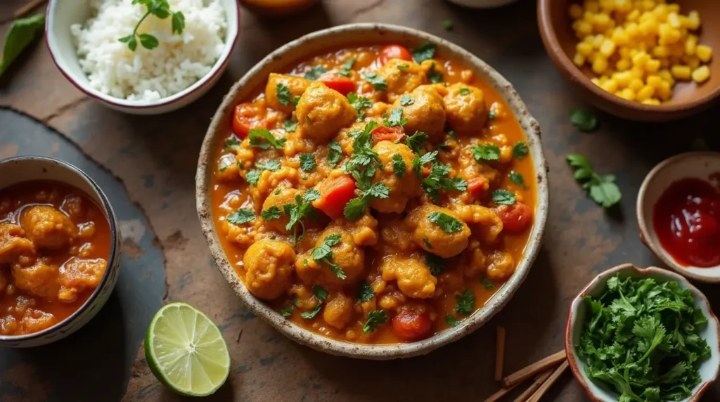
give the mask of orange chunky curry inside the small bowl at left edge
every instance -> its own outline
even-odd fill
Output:
[[[107,218],[82,191],[54,181],[0,191],[0,335],[71,316],[102,280],[109,248]]]

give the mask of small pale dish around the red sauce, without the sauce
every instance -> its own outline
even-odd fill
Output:
[[[680,265],[660,244],[652,222],[655,204],[670,183],[683,178],[709,181],[720,173],[720,152],[686,152],[663,160],[645,176],[637,196],[636,214],[640,239],[662,262],[680,275],[708,283],[720,283],[720,265],[698,268]]]

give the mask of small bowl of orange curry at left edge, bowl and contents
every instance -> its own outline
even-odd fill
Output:
[[[112,207],[78,168],[0,160],[0,346],[55,342],[107,301],[120,270]]]

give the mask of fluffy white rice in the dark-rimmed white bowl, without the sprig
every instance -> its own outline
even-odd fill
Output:
[[[93,0],[94,15],[73,24],[80,67],[97,91],[131,101],[157,101],[178,93],[207,75],[225,47],[225,9],[218,0],[168,0],[173,12],[182,12],[185,29],[173,35],[171,17],[148,16],[138,34],[158,38],[148,50],[132,52],[118,38],[132,34],[145,6],[132,0]]]

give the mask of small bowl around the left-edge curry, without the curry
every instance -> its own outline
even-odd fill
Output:
[[[34,180],[59,181],[84,191],[99,206],[109,222],[110,255],[107,258],[107,269],[100,284],[71,316],[40,332],[17,336],[0,335],[0,346],[40,346],[58,341],[76,332],[102,309],[120,274],[120,227],[115,219],[112,206],[99,186],[82,170],[50,157],[21,156],[0,160],[0,188]]]

